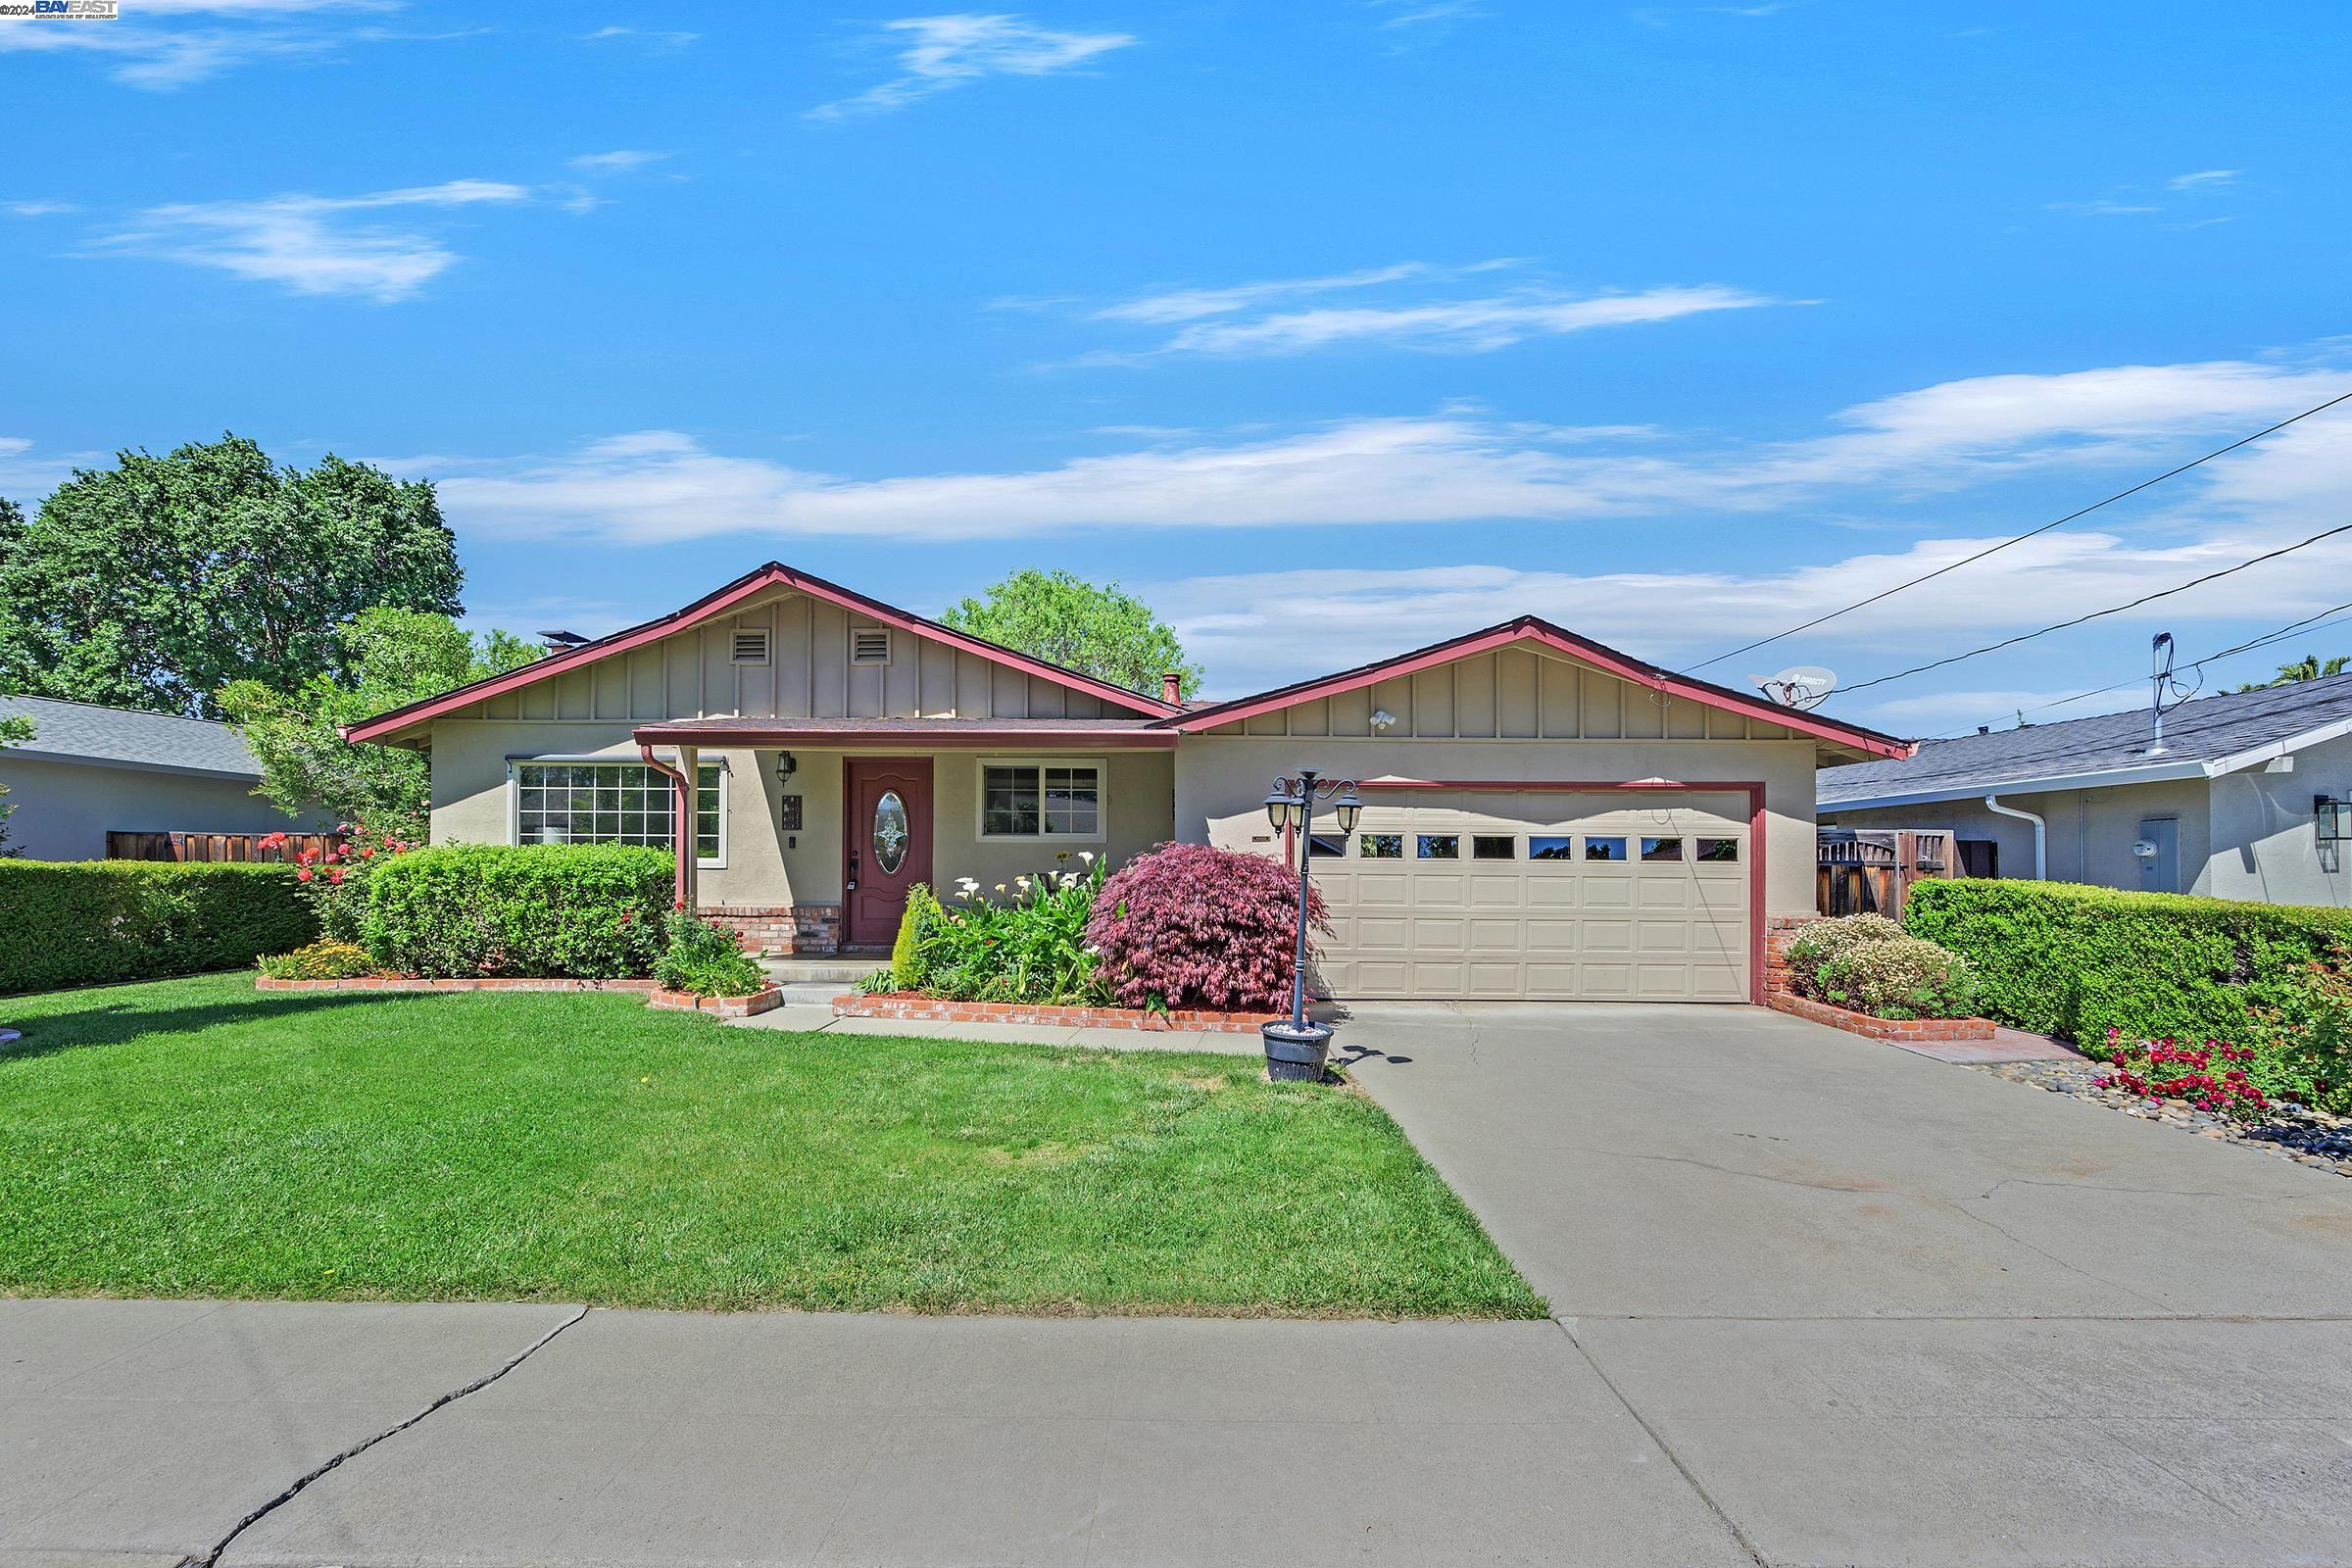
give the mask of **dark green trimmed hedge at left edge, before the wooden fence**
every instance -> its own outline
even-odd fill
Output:
[[[313,938],[292,865],[0,860],[0,992],[245,969]]]

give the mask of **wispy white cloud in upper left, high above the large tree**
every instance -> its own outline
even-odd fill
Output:
[[[532,200],[529,186],[454,179],[372,195],[273,195],[249,202],[148,207],[99,242],[106,254],[155,256],[275,282],[294,294],[353,294],[390,303],[445,273],[456,254],[414,228],[355,223],[383,209],[454,209]]]

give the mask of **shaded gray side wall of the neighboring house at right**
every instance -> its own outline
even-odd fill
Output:
[[[2211,832],[2206,783],[2171,778],[2107,790],[2046,790],[2034,795],[1999,792],[2004,806],[2034,811],[2049,823],[2049,879],[2089,882],[2093,886],[2150,889],[2164,893],[2216,893],[2211,877]],[[2157,889],[2131,853],[2147,818],[2180,823],[2180,886]],[[1994,839],[2002,846],[2004,877],[2034,875],[2032,823],[2004,818],[1985,809],[1983,797],[1929,802],[1924,806],[1884,806],[1877,811],[1837,811],[1823,806],[1823,823],[1839,827],[1950,827],[1964,839]],[[2310,830],[2310,799],[2303,802]],[[2227,893],[2232,898],[2241,893]]]

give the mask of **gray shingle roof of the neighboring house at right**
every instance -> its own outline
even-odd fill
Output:
[[[2352,733],[2352,675],[2232,691],[2164,715],[2150,755],[2147,710],[1926,741],[1910,762],[1823,769],[1823,811],[1966,799],[1997,790],[2098,790],[2159,778],[2216,778]]]

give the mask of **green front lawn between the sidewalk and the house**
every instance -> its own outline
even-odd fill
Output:
[[[0,1018],[0,1293],[1543,1312],[1381,1107],[1251,1058],[247,976]]]

